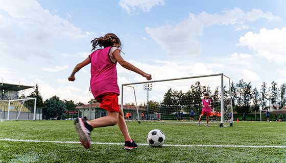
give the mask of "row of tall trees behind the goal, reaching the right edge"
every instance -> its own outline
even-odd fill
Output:
[[[221,105],[221,88],[216,87],[213,91],[209,86],[202,86],[200,82],[190,85],[189,90],[183,93],[181,90],[170,88],[164,93],[163,101],[149,101],[150,112],[168,112],[172,114],[180,110],[189,112],[193,110],[201,110],[201,100],[204,93],[209,94],[212,100],[212,106]],[[251,82],[246,83],[243,79],[239,83],[231,83],[229,87],[224,86],[224,103],[230,103],[230,90],[233,112],[238,114],[251,113],[258,111],[260,108],[266,110],[269,105],[281,109],[286,105],[286,84],[278,86],[274,81],[270,86],[264,82],[260,88],[255,88]],[[270,103],[270,104],[269,104]],[[146,106],[140,106],[145,107]]]

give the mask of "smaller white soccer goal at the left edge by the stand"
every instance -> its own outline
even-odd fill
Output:
[[[36,112],[37,98],[0,100],[0,120],[36,120],[41,113]]]

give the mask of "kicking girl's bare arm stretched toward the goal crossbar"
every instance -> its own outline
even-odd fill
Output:
[[[120,51],[119,50],[115,50],[112,53],[113,57],[115,58],[115,60],[124,68],[131,70],[133,72],[136,72],[144,77],[147,78],[147,80],[151,80],[152,76],[151,74],[145,73],[144,71],[138,69],[137,67],[133,66],[132,64],[130,64],[129,62],[125,61],[121,56],[120,56]]]

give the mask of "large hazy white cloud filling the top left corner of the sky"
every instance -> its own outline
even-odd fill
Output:
[[[52,59],[46,50],[51,40],[87,36],[69,20],[43,9],[37,1],[1,1],[0,11],[0,51],[7,56]],[[67,17],[71,18],[69,14]]]

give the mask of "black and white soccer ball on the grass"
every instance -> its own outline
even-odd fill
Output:
[[[152,147],[162,146],[164,142],[165,142],[165,135],[159,129],[153,129],[147,135],[147,143]]]

